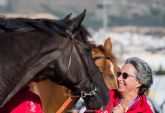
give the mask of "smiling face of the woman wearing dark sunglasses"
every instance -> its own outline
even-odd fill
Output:
[[[125,64],[117,73],[118,91],[120,93],[138,93],[140,83],[136,76],[136,69],[132,64]]]

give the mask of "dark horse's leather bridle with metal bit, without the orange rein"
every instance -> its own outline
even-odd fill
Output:
[[[77,34],[79,33],[79,31],[77,31],[76,33],[72,33],[72,32],[69,32],[68,30],[66,30],[66,33],[68,34],[68,37],[69,37],[69,39],[70,39],[70,41],[72,42],[72,47],[71,47],[71,50],[70,50],[70,56],[69,56],[69,62],[68,62],[68,71],[69,71],[69,68],[70,68],[70,64],[71,64],[71,62],[72,62],[72,50],[73,50],[73,46],[75,46],[75,48],[76,48],[76,51],[77,51],[77,53],[78,53],[78,56],[80,57],[80,60],[81,60],[81,63],[82,63],[82,65],[83,65],[83,67],[84,67],[84,70],[85,70],[85,73],[86,73],[86,75],[88,75],[87,77],[89,78],[89,80],[90,80],[90,82],[91,83],[93,83],[93,80],[92,80],[92,78],[90,77],[90,73],[88,72],[88,70],[87,70],[87,66],[86,66],[86,63],[85,63],[85,61],[84,61],[84,59],[82,58],[82,56],[81,56],[81,54],[80,54],[80,52],[79,52],[79,47],[76,45],[76,42],[75,42],[75,37],[77,36]],[[97,73],[98,71],[96,71],[95,73],[94,73],[94,75]],[[85,86],[84,84],[81,86],[81,89],[83,89],[83,86]],[[86,96],[93,96],[93,95],[96,95],[96,92],[97,92],[97,88],[96,88],[96,86],[93,86],[92,84],[91,84],[91,86],[90,86],[90,88],[91,88],[91,91],[89,91],[89,92],[85,92],[85,91],[83,91],[83,90],[78,90],[78,91],[76,91],[76,92],[72,92],[72,93],[69,93],[69,95],[72,95],[72,97],[81,97],[81,98],[85,98]],[[75,94],[77,94],[77,93],[81,93],[81,96],[77,96],[77,95],[75,95]]]

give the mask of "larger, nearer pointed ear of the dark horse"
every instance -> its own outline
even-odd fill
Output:
[[[71,19],[71,24],[69,26],[70,31],[73,31],[74,29],[79,28],[82,21],[84,20],[85,14],[86,14],[86,9],[77,17]]]

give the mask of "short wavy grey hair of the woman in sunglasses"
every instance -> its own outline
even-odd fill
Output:
[[[153,83],[151,67],[138,57],[128,58],[125,61],[125,64],[132,64],[135,67],[137,79],[142,84],[139,88],[138,94],[144,94],[149,90],[151,84]]]

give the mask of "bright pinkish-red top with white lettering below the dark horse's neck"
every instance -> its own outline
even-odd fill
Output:
[[[39,96],[28,89],[19,91],[0,113],[44,113]]]

